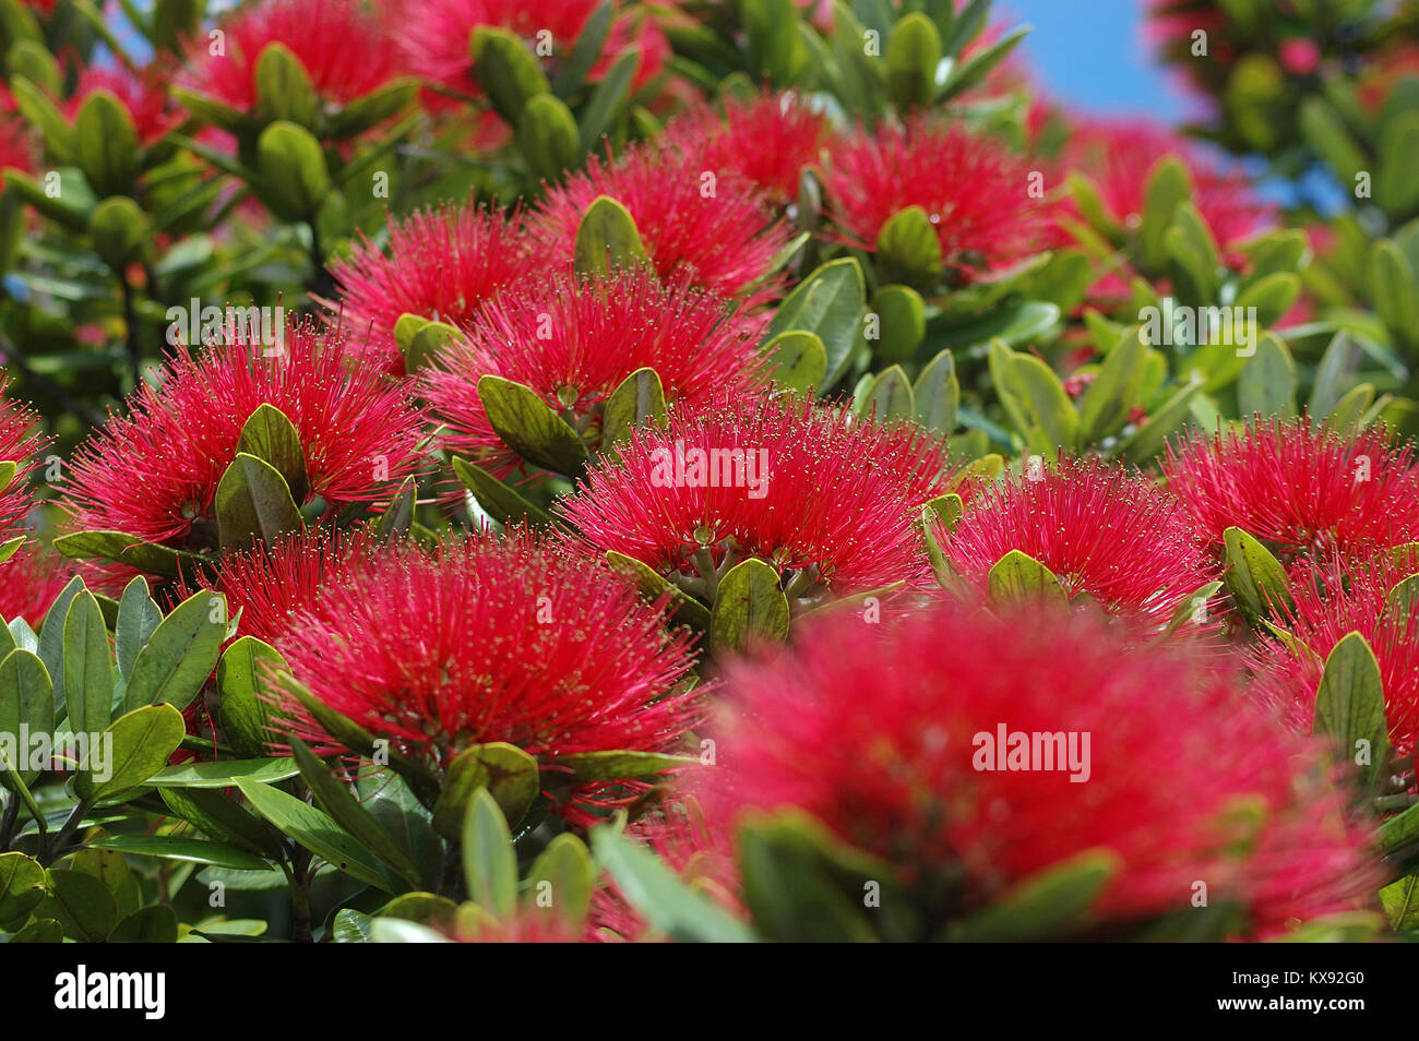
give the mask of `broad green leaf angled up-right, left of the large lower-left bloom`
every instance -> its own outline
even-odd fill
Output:
[[[193,593],[153,630],[128,675],[123,706],[167,702],[184,709],[197,696],[227,635],[227,600],[220,593]]]

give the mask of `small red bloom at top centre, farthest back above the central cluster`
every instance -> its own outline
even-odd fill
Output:
[[[722,116],[711,105],[690,109],[670,122],[663,143],[698,156],[707,170],[746,177],[785,206],[829,139],[822,112],[792,94],[761,94],[752,102],[725,98]]]

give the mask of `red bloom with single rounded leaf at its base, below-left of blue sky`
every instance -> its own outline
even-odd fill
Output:
[[[905,130],[884,125],[849,138],[832,156],[826,190],[843,241],[876,250],[883,226],[920,206],[945,264],[971,274],[1040,245],[1043,211],[1027,194],[1027,173],[989,138],[917,119]]]

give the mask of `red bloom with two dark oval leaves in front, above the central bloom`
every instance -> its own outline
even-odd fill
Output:
[[[421,370],[419,389],[448,428],[444,447],[507,474],[521,460],[488,421],[480,377],[531,387],[595,445],[602,406],[637,369],[654,369],[671,403],[752,393],[763,370],[762,328],[685,275],[664,285],[646,268],[617,271],[606,282],[562,272],[522,282],[484,306],[465,339]]]

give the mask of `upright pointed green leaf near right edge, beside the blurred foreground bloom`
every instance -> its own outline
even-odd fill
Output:
[[[1313,730],[1340,743],[1344,755],[1362,767],[1371,791],[1385,781],[1389,764],[1385,686],[1375,652],[1359,633],[1348,634],[1325,658]]]

